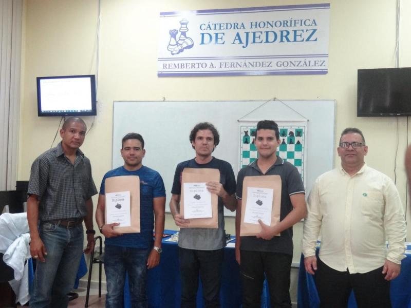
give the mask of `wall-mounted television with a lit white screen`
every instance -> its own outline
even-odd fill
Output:
[[[96,115],[95,75],[37,78],[39,117]]]

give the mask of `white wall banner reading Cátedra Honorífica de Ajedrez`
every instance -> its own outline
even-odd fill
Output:
[[[160,13],[159,77],[326,74],[330,4]]]

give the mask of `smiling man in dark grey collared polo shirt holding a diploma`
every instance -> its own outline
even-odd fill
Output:
[[[279,143],[278,125],[271,120],[258,122],[255,139],[258,159],[238,172],[235,249],[240,264],[244,308],[260,307],[264,274],[268,280],[271,306],[291,308],[292,226],[305,217],[307,208],[304,185],[297,168],[276,156]],[[272,227],[259,221],[261,232],[257,236],[240,237],[244,178],[266,175],[281,177],[280,221]]]

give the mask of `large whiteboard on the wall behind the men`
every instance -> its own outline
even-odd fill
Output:
[[[213,156],[238,172],[238,120],[290,121],[308,119],[305,166],[306,192],[315,179],[333,168],[335,101],[115,101],[113,104],[113,168],[123,165],[121,139],[140,133],[145,142],[143,165],[160,172],[169,209],[178,163],[195,157],[189,134],[199,122],[211,122],[220,134]],[[226,210],[228,216],[235,213]]]

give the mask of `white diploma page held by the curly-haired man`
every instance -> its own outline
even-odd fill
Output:
[[[184,219],[211,218],[211,193],[206,183],[184,183]]]

